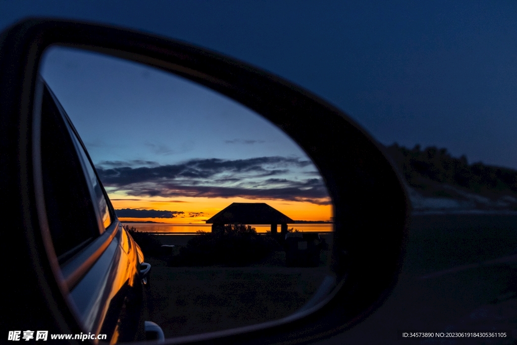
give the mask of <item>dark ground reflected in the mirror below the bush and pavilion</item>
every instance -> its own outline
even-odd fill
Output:
[[[157,235],[162,244],[185,246],[196,235]],[[332,244],[332,235],[326,234]],[[306,304],[329,273],[328,251],[320,267],[285,267],[285,252],[271,253],[249,267],[152,266],[144,298],[144,317],[158,323],[165,337],[219,331],[288,316]]]

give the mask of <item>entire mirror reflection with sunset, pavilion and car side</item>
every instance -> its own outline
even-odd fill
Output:
[[[116,341],[142,339],[127,325],[144,321],[165,337],[257,324],[335,286],[328,191],[279,128],[204,86],[97,53],[52,47],[40,74],[124,226],[101,226],[60,261],[87,332]],[[92,246],[102,255],[81,273]]]

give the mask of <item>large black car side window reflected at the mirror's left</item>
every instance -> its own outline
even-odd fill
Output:
[[[47,88],[42,102],[41,156],[50,233],[59,262],[99,236],[81,162]]]

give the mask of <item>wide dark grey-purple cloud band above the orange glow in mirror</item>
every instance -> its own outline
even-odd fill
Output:
[[[157,167],[105,164],[97,171],[104,186],[134,197],[240,197],[329,204],[322,179],[302,173],[311,166],[312,162],[296,157],[211,158]]]

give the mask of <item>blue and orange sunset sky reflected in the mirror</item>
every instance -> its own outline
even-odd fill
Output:
[[[241,104],[170,73],[72,49],[48,51],[41,74],[121,220],[204,223],[232,202],[331,219],[311,160]]]

